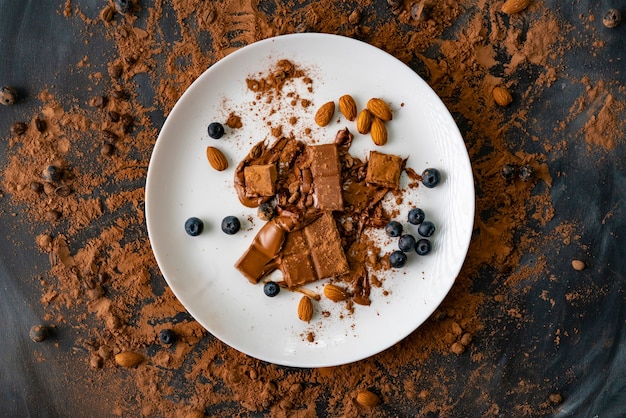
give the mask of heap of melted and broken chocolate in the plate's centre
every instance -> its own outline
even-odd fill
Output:
[[[338,277],[352,286],[354,302],[369,304],[368,271],[380,267],[372,265],[376,261],[371,254],[379,249],[362,234],[366,227],[387,224],[389,215],[380,202],[397,186],[393,181],[366,181],[368,161],[350,154],[352,139],[343,129],[334,144],[305,146],[287,137],[272,146],[263,141],[238,165],[235,189],[241,203],[256,207],[272,201],[280,214],[261,228],[237,261],[237,269],[252,283],[275,269],[289,288]],[[392,167],[394,173],[404,169],[405,160],[388,160],[400,162]],[[268,164],[277,169],[276,193],[252,196],[245,168]]]

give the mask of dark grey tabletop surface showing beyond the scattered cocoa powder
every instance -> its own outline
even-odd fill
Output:
[[[83,10],[95,14],[102,2],[82,0],[77,3]],[[589,34],[579,16],[595,11],[600,17],[596,19],[595,30],[602,33],[605,45],[600,49],[577,48],[567,53],[562,60],[563,76],[533,98],[528,118],[533,124],[526,132],[513,129],[511,136],[517,135],[520,139],[517,146],[528,153],[545,152],[541,141],[523,140],[531,136],[550,137],[555,144],[562,140],[572,144],[563,151],[548,153],[554,180],[550,195],[555,215],[545,228],[551,230],[562,222],[581,226],[577,233],[579,242],[588,249],[585,260],[588,268],[574,272],[570,263],[580,257],[577,248],[542,242],[542,227],[535,226],[541,251],[529,254],[523,262],[532,265],[537,256],[542,255],[550,274],[521,284],[530,286],[525,292],[511,292],[524,312],[523,321],[507,315],[503,312],[505,307],[491,299],[483,304],[481,318],[485,331],[476,344],[488,353],[481,367],[489,372],[485,375],[490,378],[474,377],[472,385],[480,387],[468,386],[469,376],[472,373],[480,376],[481,371],[469,357],[455,359],[458,381],[449,388],[449,402],[455,405],[456,411],[453,416],[481,416],[489,408],[484,404],[485,393],[490,403],[499,405],[502,416],[522,415],[516,405],[520,402],[538,405],[551,391],[561,393],[564,398],[556,416],[619,417],[626,414],[626,250],[622,243],[626,234],[626,135],[621,133],[616,148],[610,152],[603,149],[589,152],[581,138],[581,129],[589,116],[587,112],[592,110],[584,111],[558,135],[553,133],[555,124],[568,115],[573,98],[585,88],[577,80],[586,76],[592,84],[599,80],[622,85],[626,82],[626,24],[611,31],[597,28],[601,11],[620,2],[546,3],[555,5],[560,19],[574,27],[572,36],[580,37],[581,42]],[[261,4],[262,10],[271,11],[275,7],[270,1]],[[85,103],[88,95],[94,94],[86,90],[90,85],[90,71],[75,70],[76,63],[88,53],[93,68],[98,68],[115,54],[114,46],[101,32],[91,34],[89,44],[79,41],[85,34],[79,33],[77,26],[61,15],[61,9],[62,5],[54,1],[0,1],[0,83],[17,88],[20,95],[17,105],[0,108],[0,138],[8,136],[14,121],[36,111],[39,103],[32,95],[43,88],[53,89],[61,99]],[[175,38],[176,34],[170,33],[174,29],[167,24],[162,27],[166,38]],[[417,63],[413,67],[428,81],[425,68]],[[527,78],[520,82],[520,90],[535,81],[532,67],[526,69],[525,75]],[[140,100],[152,103],[154,92],[150,82],[138,77],[137,84]],[[590,109],[601,106],[602,102],[592,104]],[[163,119],[162,109],[153,112],[155,126],[160,126]],[[465,133],[464,121],[457,121]],[[2,166],[6,164],[6,146],[6,142],[0,140]],[[146,161],[149,158],[141,157]],[[567,175],[559,176],[557,173],[561,172]],[[83,362],[77,368],[72,364],[72,356],[67,355],[76,349],[73,344],[76,335],[71,326],[57,330],[50,343],[35,345],[28,337],[31,325],[40,322],[43,311],[37,277],[46,271],[48,259],[34,243],[38,226],[26,228],[20,222],[22,219],[21,209],[10,205],[6,194],[0,198],[0,325],[3,335],[0,416],[109,415],[111,404],[106,388],[92,382],[88,365]],[[141,230],[138,233],[141,234]],[[550,275],[562,280],[551,280]],[[500,272],[484,268],[474,280],[474,290],[490,294],[500,286],[501,277]],[[542,299],[546,291],[556,301],[553,306]],[[566,302],[567,295],[576,292],[592,297]],[[561,334],[561,343],[555,345],[558,332],[567,336]],[[450,369],[450,361],[447,357],[433,358],[425,367],[431,372]],[[529,382],[527,390],[520,389],[522,380]],[[184,382],[180,385],[183,387]],[[102,400],[89,403],[100,405],[101,410],[93,406],[89,411],[82,409],[81,399],[90,397]],[[237,406],[217,406],[212,412],[218,415],[222,408],[232,411]],[[389,416],[412,414],[411,405],[386,408]],[[414,411],[419,414],[417,407]]]

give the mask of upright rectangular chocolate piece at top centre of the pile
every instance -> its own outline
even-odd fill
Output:
[[[315,206],[321,210],[343,210],[341,166],[335,144],[307,147],[313,177]]]

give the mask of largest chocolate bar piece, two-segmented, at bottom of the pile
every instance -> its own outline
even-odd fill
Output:
[[[287,235],[280,269],[289,288],[350,271],[330,212]]]

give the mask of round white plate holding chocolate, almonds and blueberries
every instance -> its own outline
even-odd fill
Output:
[[[400,206],[398,219],[407,227],[410,206],[419,206],[437,225],[433,251],[413,253],[403,269],[387,275],[383,287],[373,289],[369,307],[348,313],[342,304],[322,298],[311,323],[296,314],[300,293],[281,291],[269,298],[263,286],[250,284],[235,268],[262,222],[256,211],[242,206],[233,189],[233,173],[251,146],[270,139],[264,116],[269,105],[255,101],[245,80],[267,74],[279,59],[306,69],[313,91],[294,83],[292,89],[313,104],[292,107],[289,98],[274,102],[281,111],[272,116],[283,131],[302,139],[314,126],[314,112],[322,103],[349,93],[362,107],[381,97],[394,110],[387,123],[389,143],[381,152],[408,157],[407,166],[441,170],[443,181],[423,186]],[[254,104],[256,103],[256,104]],[[243,122],[220,140],[210,139],[207,126],[224,122],[235,111]],[[338,117],[326,128],[313,129],[318,143],[331,142],[335,133],[353,122]],[[292,125],[288,117],[296,115]],[[282,118],[282,119],[281,119]],[[230,166],[217,172],[207,163],[208,145],[220,147]],[[356,135],[351,153],[363,158],[371,139]],[[402,181],[407,179],[403,174]],[[242,230],[233,236],[220,229],[221,219],[236,215]],[[185,233],[184,222],[197,216],[205,222],[198,237]],[[391,55],[349,38],[327,34],[294,34],[266,39],[242,48],[202,74],[185,92],[167,118],[154,147],[146,183],[146,219],[156,260],[176,297],[214,336],[250,356],[296,367],[334,366],[354,362],[392,346],[420,326],[444,299],[458,275],[470,242],[474,221],[474,185],[465,144],[450,113],[430,87]],[[417,235],[417,234],[416,234]],[[385,238],[383,237],[383,240]],[[396,244],[386,239],[387,249]],[[279,273],[278,273],[279,274]],[[321,293],[321,284],[310,286]],[[383,290],[387,295],[383,295]],[[330,312],[324,317],[320,312]],[[307,334],[315,336],[307,341]]]

